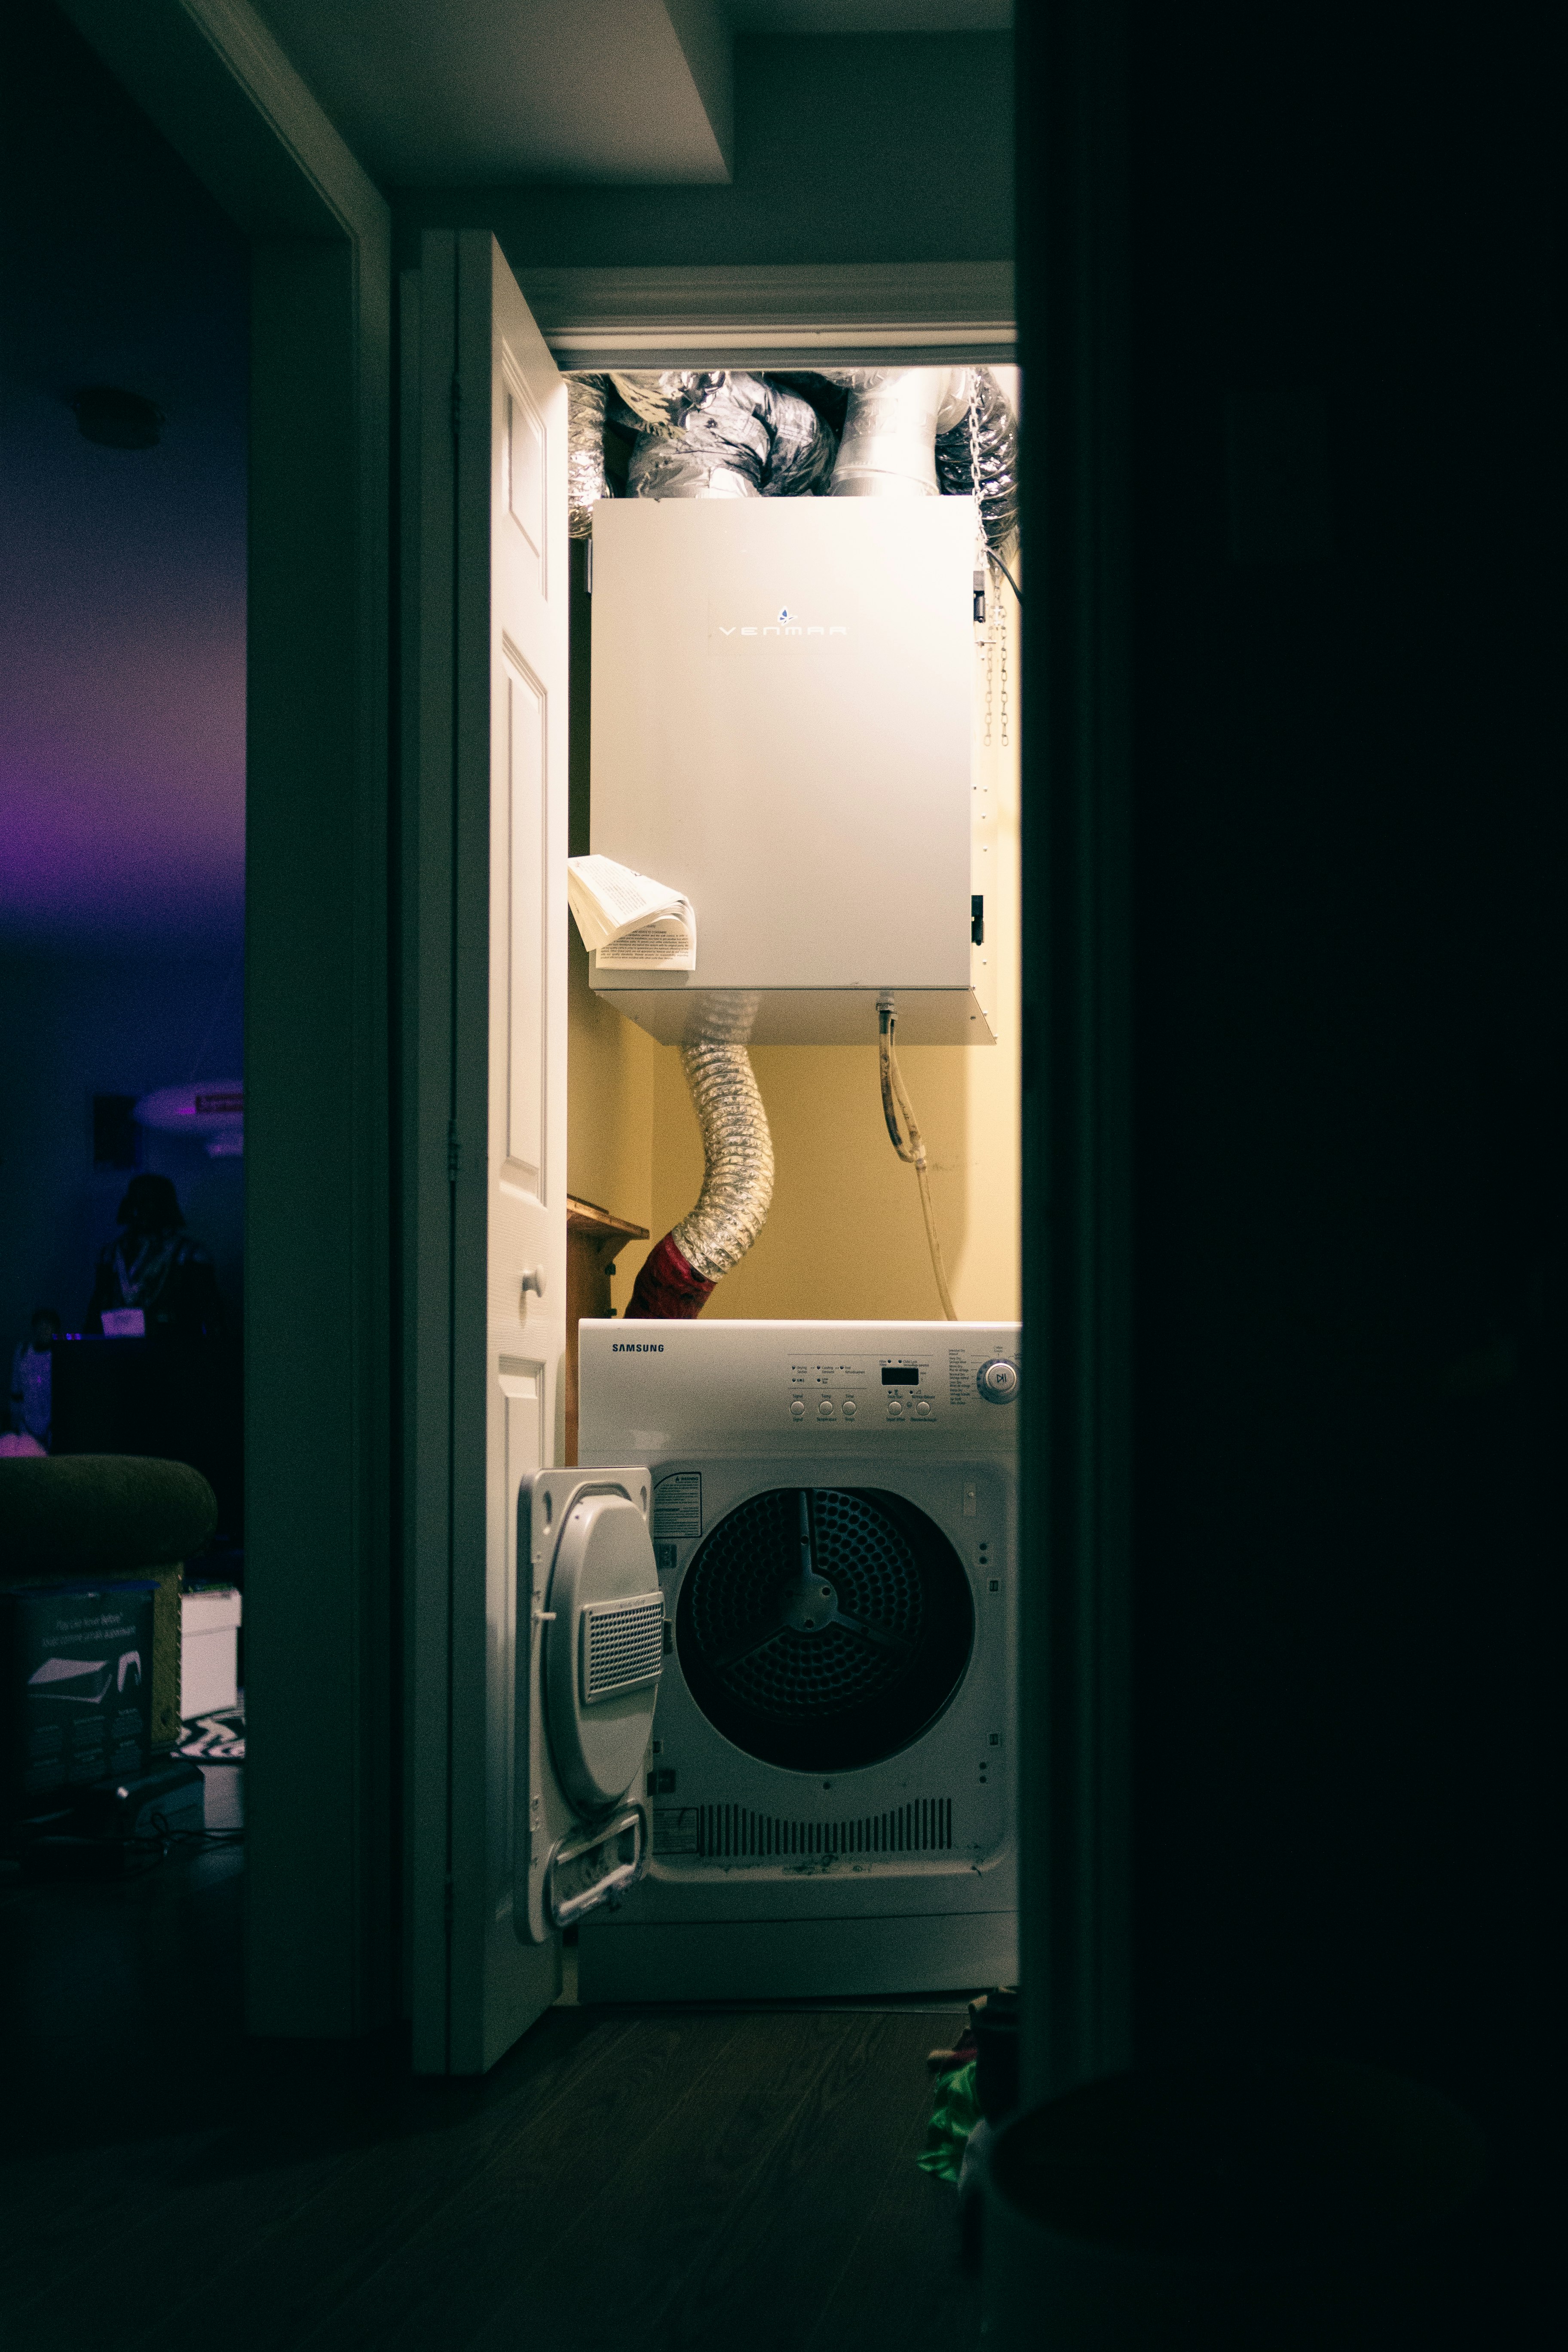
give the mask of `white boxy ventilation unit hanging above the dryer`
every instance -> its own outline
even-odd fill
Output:
[[[592,985],[665,1044],[992,1044],[971,988],[969,499],[595,508],[592,849],[696,969]]]

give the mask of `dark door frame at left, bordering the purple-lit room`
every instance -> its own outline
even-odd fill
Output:
[[[244,2020],[395,2013],[393,223],[247,0],[63,0],[249,240]]]

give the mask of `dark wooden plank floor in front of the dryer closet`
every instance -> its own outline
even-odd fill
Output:
[[[482,2084],[247,2044],[237,1853],[0,1879],[7,2352],[978,2345],[931,2011],[555,2009]]]

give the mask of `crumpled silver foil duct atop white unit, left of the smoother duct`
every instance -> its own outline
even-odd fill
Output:
[[[637,499],[799,499],[832,468],[832,433],[811,402],[762,376],[705,376],[670,407],[670,423],[637,435]]]

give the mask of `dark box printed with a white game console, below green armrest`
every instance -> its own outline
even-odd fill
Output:
[[[153,1585],[0,1590],[0,1792],[9,1813],[146,1771]]]

